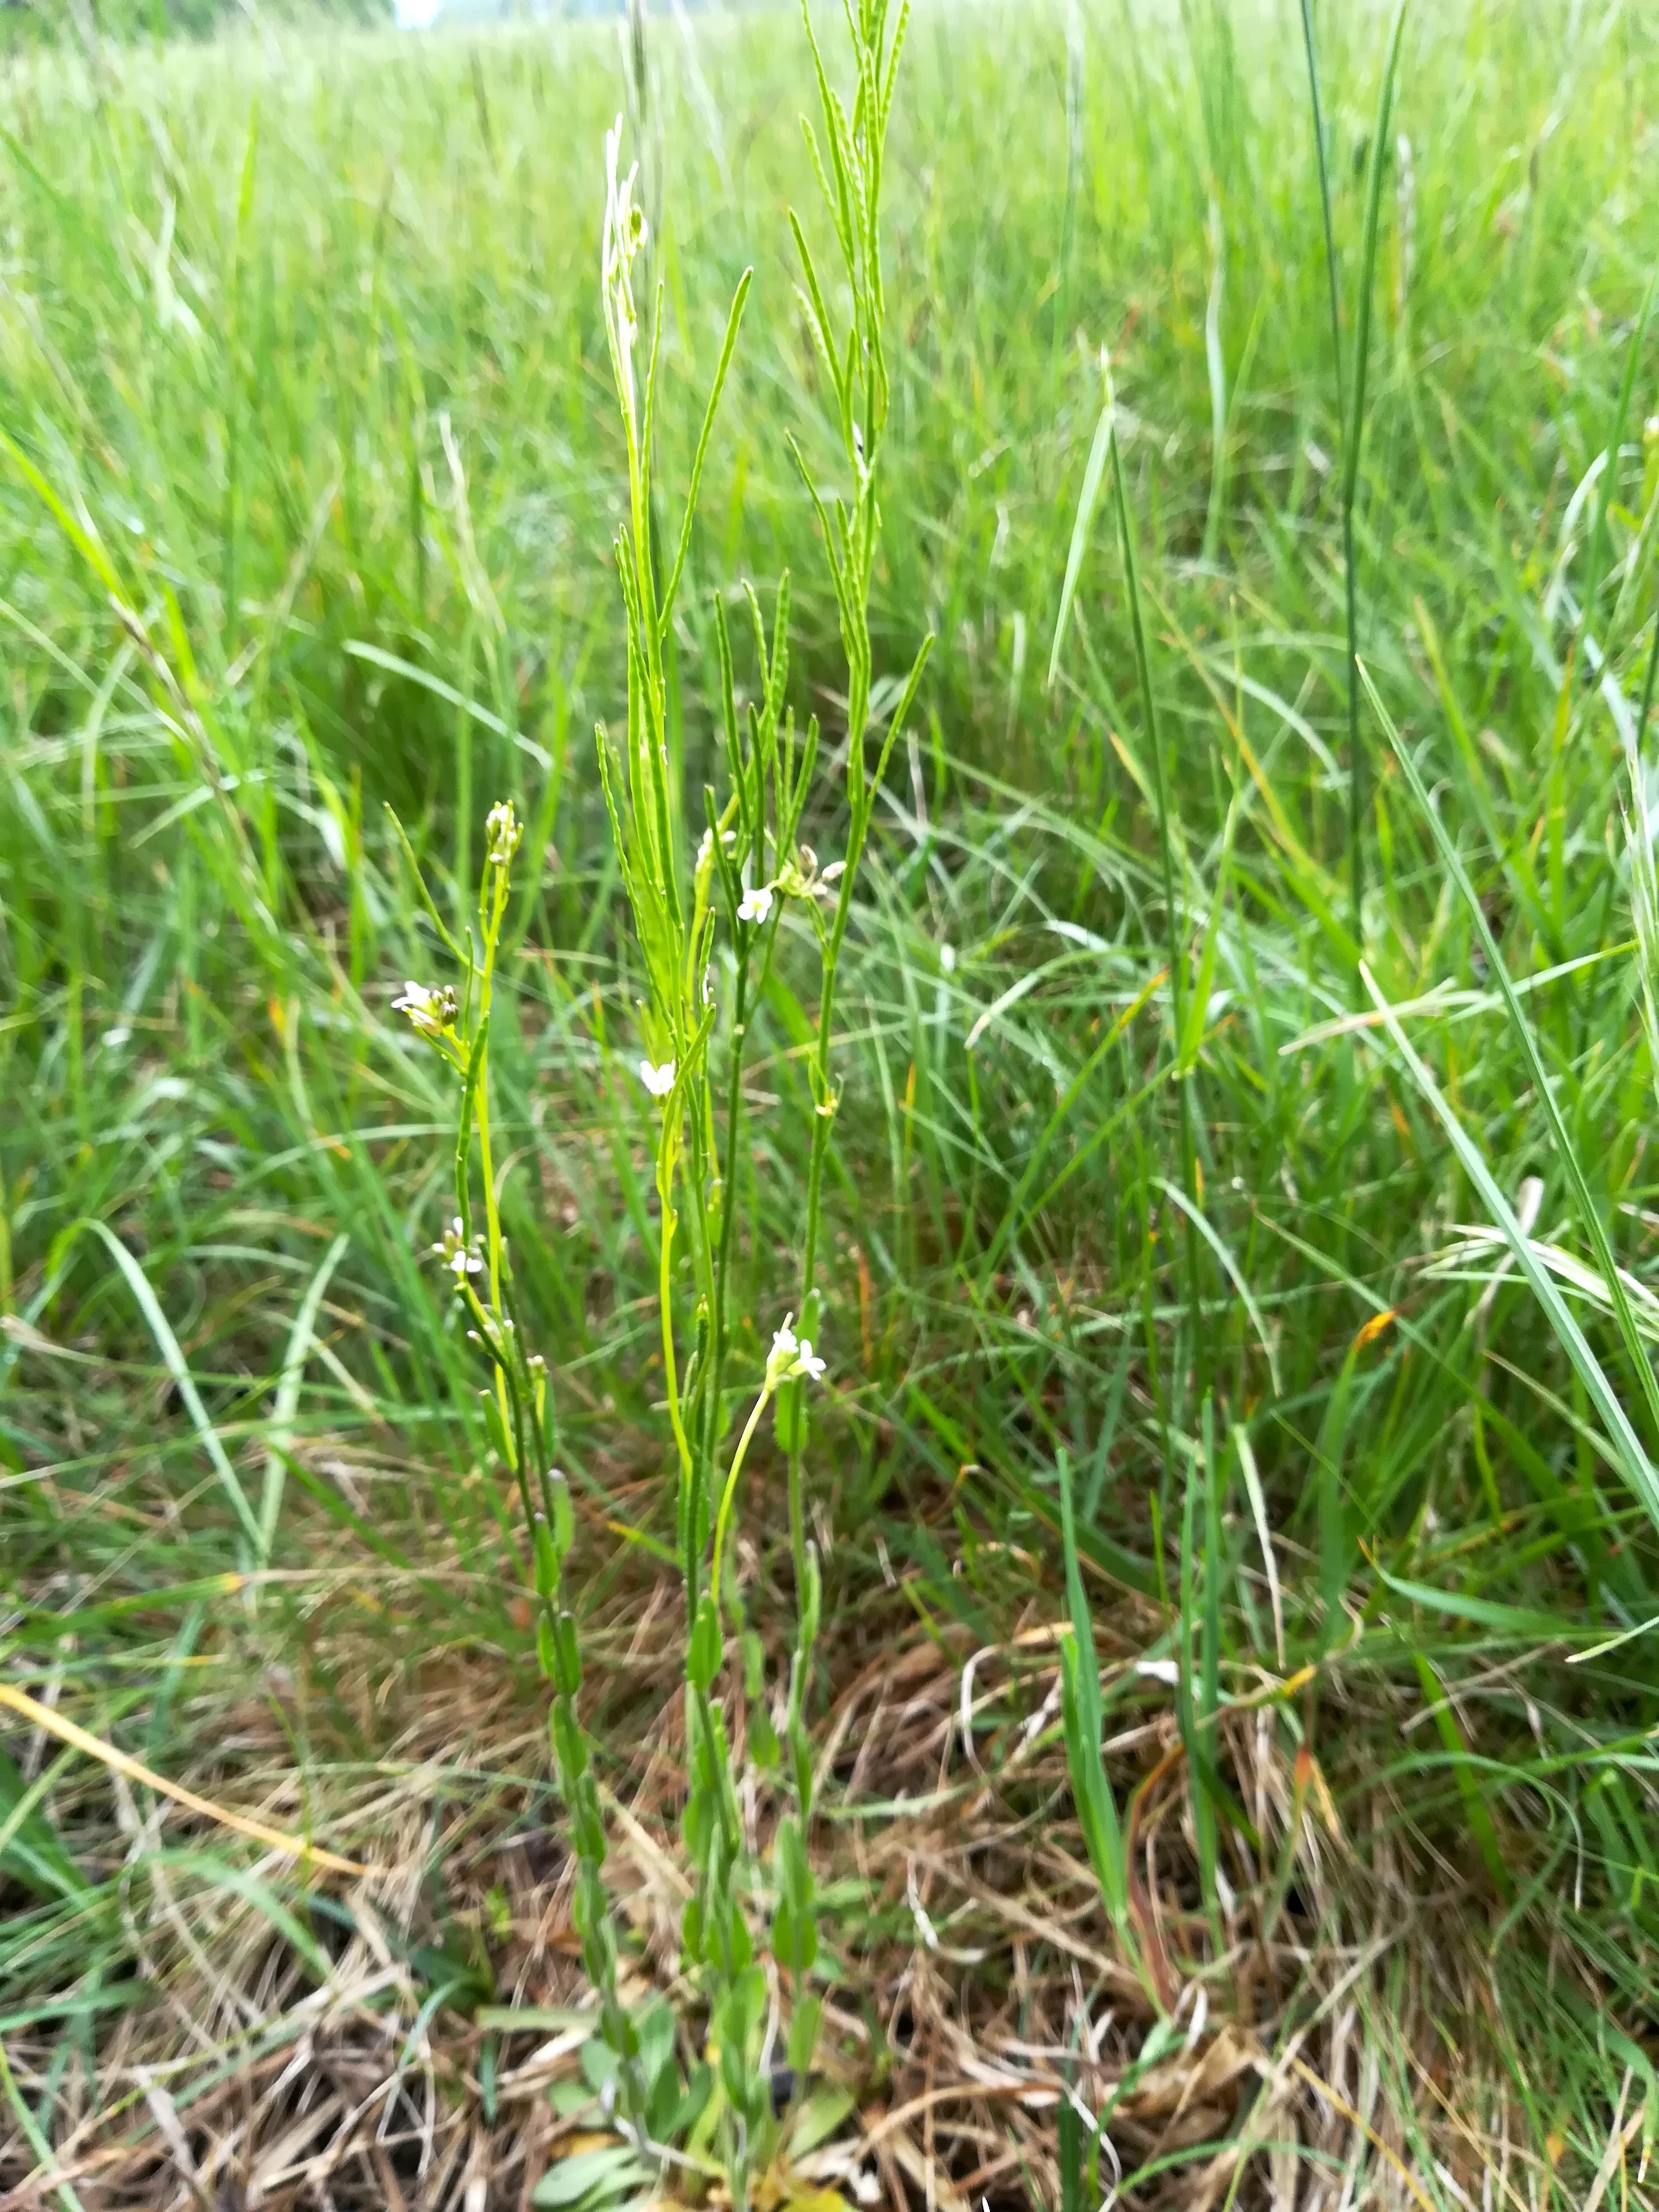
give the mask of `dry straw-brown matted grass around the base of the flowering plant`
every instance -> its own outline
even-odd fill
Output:
[[[604,1686],[602,1741],[635,1747],[611,1776],[633,1995],[659,1989],[686,2022],[677,1593],[641,1557],[593,1626],[591,1679]],[[186,1778],[369,1871],[321,1882],[310,1911],[276,1854],[248,1869],[243,1893],[201,1887],[168,1854],[210,1845],[210,1827],[93,1770],[77,1816],[102,1834],[84,1860],[133,1869],[128,1936],[150,1991],[100,2039],[95,2079],[71,2086],[58,2161],[38,2168],[15,2139],[0,2150],[15,2212],[69,2203],[64,2190],[84,2212],[504,2212],[595,2141],[593,2108],[557,2117],[549,2101],[580,2079],[584,2031],[546,2013],[582,2006],[584,1984],[529,1677],[500,1650],[436,1648],[442,1564],[416,1586],[319,1559],[294,1586],[290,1666],[243,1672],[226,1699],[217,1683],[257,1646],[250,1635],[212,1655]],[[750,1595],[765,1615],[770,1593]],[[1447,1878],[1429,1893],[1433,1869],[1407,1865],[1383,1792],[1345,1792],[1336,1820],[1325,1778],[1285,1747],[1270,1677],[1263,1701],[1230,1717],[1223,1752],[1261,1860],[1232,1838],[1225,1942],[1201,1973],[1186,1767],[1155,1677],[1108,1743],[1152,1971],[1183,2031],[1141,2068],[1155,2015],[1113,1953],[1071,1818],[1044,1606],[995,1648],[918,1619],[900,1584],[834,1619],[816,1871],[845,1971],[823,2066],[854,2106],[830,2146],[772,2177],[774,2199],[854,2197],[858,2183],[929,2212],[1057,2203],[1055,2106],[1077,2093],[1108,2112],[1121,2201],[1146,2212],[1438,2205],[1447,2177],[1469,2203],[1531,2201],[1522,2128],[1475,2035],[1493,2000],[1467,1887]],[[1135,1599],[1113,1624],[1108,1681],[1159,1626]],[[741,1745],[741,1710],[730,1721]],[[772,1801],[752,1767],[743,1801],[763,1851]],[[290,1933],[272,1924],[276,1893],[299,1916]],[[325,1978],[292,1929],[321,1944]],[[447,1973],[469,1986],[434,2006]],[[1471,2031],[1462,2048],[1449,2024]],[[24,2028],[7,2051],[24,2097],[38,2095],[51,2044]],[[1108,2163],[1102,2188],[1113,2181]]]

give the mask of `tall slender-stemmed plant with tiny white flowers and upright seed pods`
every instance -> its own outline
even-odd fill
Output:
[[[832,1068],[836,962],[852,920],[854,876],[872,830],[876,794],[891,748],[902,734],[916,697],[927,646],[872,739],[874,650],[867,604],[876,571],[880,511],[876,480],[889,383],[883,349],[880,181],[887,117],[898,73],[905,9],[889,20],[889,0],[847,7],[856,62],[856,97],[838,100],[827,84],[812,38],[825,164],[814,139],[814,166],[830,195],[830,217],[841,243],[845,283],[832,288],[841,314],[832,323],[825,290],[812,270],[805,234],[794,226],[805,259],[803,310],[832,394],[849,491],[823,493],[807,478],[830,557],[830,584],[847,655],[841,692],[845,730],[836,752],[845,761],[845,860],[821,867],[801,843],[807,805],[821,796],[818,721],[796,728],[785,703],[790,675],[790,580],[779,580],[770,624],[752,586],[712,591],[712,633],[719,653],[717,706],[726,792],[703,787],[706,830],[686,818],[690,792],[679,774],[672,684],[666,650],[675,635],[675,599],[688,575],[697,493],[717,405],[732,363],[750,272],[737,285],[726,341],[714,369],[701,434],[686,478],[684,511],[666,542],[657,518],[666,509],[664,442],[653,438],[657,407],[657,334],[661,288],[655,303],[644,292],[641,252],[646,219],[637,168],[622,161],[622,122],[606,135],[606,206],[599,292],[617,411],[626,442],[626,500],[615,533],[617,582],[626,619],[626,730],[597,734],[597,768],[615,841],[617,876],[628,907],[628,971],[641,982],[637,1075],[659,1102],[655,1115],[655,1261],[661,1329],[659,1380],[672,1431],[666,1473],[675,1486],[675,1542],[686,1604],[686,1805],[681,1832],[692,1871],[692,1893],[681,1922],[681,1969],[706,2006],[708,2044],[719,2053],[719,2106],[712,2108],[710,2146],[723,2166],[732,2212],[752,2212],[750,2177],[768,2166],[790,2132],[790,2115],[774,2110],[772,2066],[779,2011],[787,2004],[787,2066],[796,2081],[812,2077],[821,1997],[814,1989],[818,1958],[816,1898],[807,1867],[812,1823],[812,1752],[805,1705],[818,1635],[821,1571],[807,1535],[803,1462],[810,1438],[807,1389],[823,1383],[827,1360],[814,1338],[823,1325],[816,1248],[830,1121],[841,1095]],[[838,179],[838,197],[827,179]],[[856,208],[856,221],[852,219]],[[655,314],[650,312],[655,305]],[[796,453],[796,462],[801,456]],[[803,469],[805,476],[805,469]],[[695,571],[692,571],[695,573]],[[739,686],[728,608],[748,604],[754,624],[759,681]],[[770,635],[768,635],[770,630]],[[885,686],[883,686],[885,692]],[[741,701],[741,706],[739,706]],[[533,1584],[540,1606],[538,1652],[549,1677],[551,1734],[560,1796],[577,1858],[573,1918],[582,1938],[588,1980],[599,1993],[597,2026],[619,2059],[619,2106],[644,2150],[648,2141],[639,2033],[619,2000],[615,1920],[604,1891],[606,1836],[597,1787],[575,1714],[580,1650],[575,1621],[560,1597],[564,1551],[571,1542],[571,1502],[553,1471],[551,1389],[540,1360],[524,1352],[524,1323],[502,1237],[502,1190],[491,1159],[491,982],[509,900],[511,863],[520,847],[511,805],[491,810],[487,863],[478,885],[478,920],[447,927],[420,887],[427,920],[456,962],[460,1000],[438,987],[409,984],[400,1011],[429,1035],[458,1075],[460,1128],[456,1141],[456,1221],[440,1243],[451,1267],[467,1336],[491,1365],[482,1394],[489,1438],[518,1482],[533,1542]],[[414,854],[405,854],[418,878]],[[690,863],[690,865],[688,865]],[[732,1444],[732,1378],[743,1340],[734,1314],[745,1248],[759,1223],[745,1219],[754,1177],[745,1157],[759,1148],[748,1137],[745,1060],[750,1026],[765,1004],[774,958],[794,960],[781,907],[805,905],[821,956],[816,1037],[807,1057],[812,1155],[801,1192],[801,1292],[796,1312],[772,1334],[752,1385],[750,1411]],[[721,949],[719,936],[726,931]],[[460,942],[458,942],[460,940]],[[719,1004],[712,962],[723,960]],[[730,987],[728,987],[730,984]],[[624,1062],[626,1064],[626,1062]],[[478,1199],[473,1199],[473,1190]],[[471,1234],[473,1217],[482,1237]],[[650,1230],[648,1230],[650,1234]],[[799,1332],[796,1332],[799,1318]],[[768,1416],[776,1451],[787,1467],[787,1526],[796,1586],[796,1628],[790,1655],[787,1759],[783,1785],[790,1803],[763,1876],[739,1805],[732,1745],[726,1728],[728,1681],[721,1606],[739,1606],[728,1535],[737,1515],[741,1471]],[[759,1666],[759,1661],[757,1661]],[[750,1697],[759,1681],[750,1683]],[[754,1712],[754,1705],[750,1708]],[[768,1763],[761,1732],[750,1728],[750,1756]],[[770,1759],[776,1761],[772,1743]],[[757,1960],[759,1920],[768,1913],[776,1973]],[[765,1940],[765,1938],[761,1938]]]

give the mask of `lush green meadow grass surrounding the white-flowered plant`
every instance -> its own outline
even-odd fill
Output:
[[[1354,389],[1391,11],[1314,20]],[[668,655],[697,818],[714,580],[770,604],[790,571],[794,706],[825,750],[845,714],[787,456],[794,436],[832,471],[785,215],[816,208],[794,124],[812,86],[787,9],[650,35],[672,482],[757,270]],[[480,2128],[500,2115],[478,1995],[542,1984],[480,1966],[489,1909],[456,1922],[456,1898],[502,1834],[555,1814],[513,1506],[425,1259],[451,1102],[389,1013],[434,936],[383,803],[447,918],[489,805],[511,794],[529,823],[491,1029],[502,1219],[557,1369],[584,1710],[608,1787],[641,1790],[666,1836],[672,1741],[655,1765],[646,1745],[675,1666],[653,1683],[637,1652],[666,1635],[675,1542],[653,1124],[591,748],[624,681],[597,290],[622,104],[608,27],[250,31],[0,80],[4,1681],[212,1801],[400,1865],[400,1978],[374,1997],[398,2026],[374,2048],[396,2064],[442,2000],[445,2110]],[[1221,2203],[1228,2172],[1237,2203],[1270,2203],[1296,2161],[1365,2170],[1383,2203],[1486,2201],[1489,2174],[1491,2201],[1566,2212],[1604,2166],[1601,2201],[1650,2201],[1659,1677],[1628,1632],[1659,1613],[1659,1429],[1632,1365],[1659,1334],[1659,1201],[1619,717],[1644,706],[1659,588],[1655,128],[1639,9],[1407,15],[1345,449],[1294,7],[922,9],[911,29],[878,714],[925,628],[938,646],[843,956],[816,1717],[885,1637],[931,1650],[949,1717],[989,1648],[971,1688],[993,1781],[987,1809],[960,1734],[911,1756],[902,1690],[867,1752],[836,1750],[814,1854],[836,2002],[858,2020],[865,2000],[872,2042],[832,2055],[876,2079],[872,2022],[898,2051],[900,2004],[940,2077],[951,2004],[987,2048],[987,2022],[1075,2044],[1077,1960],[1031,1929],[1015,1960],[1006,1924],[971,1918],[989,1907],[916,1871],[978,1807],[1013,1856],[969,1871],[1013,1896],[1042,1871],[1018,1858],[1031,1823],[1053,1823],[1053,1924],[1093,1958],[1121,1938],[1172,1991],[1199,1980],[1212,2031],[1252,2033],[1279,2084],[1210,2099],[1201,2157],[1133,2119],[1150,2015],[1128,1966],[1106,1978],[1097,2013],[1139,2026],[1082,2090],[1099,2110],[1128,2068],[1124,2166],[1177,2161],[1130,2190],[1144,2205]],[[1102,347],[1121,529],[1104,445],[1091,471]],[[1413,763],[1360,695],[1363,947],[1345,451],[1360,657]],[[750,661],[739,644],[739,688]],[[805,827],[841,852],[832,810]],[[814,991],[785,933],[750,1048],[743,1387],[799,1281]],[[1544,1298],[1500,1279],[1486,1194],[1524,1214],[1528,1177]],[[770,1440],[754,1464],[741,1575],[776,1697],[785,1469]],[[1124,1739],[1102,1767],[1130,1854],[1110,1916],[1077,1882],[1046,1635],[1088,1615]],[[1179,1683],[1124,1666],[1141,1657],[1181,1659]],[[219,2110],[215,2068],[285,2051],[330,1962],[387,1938],[354,1931],[349,1887],[307,1902],[212,1823],[146,1827],[142,1783],[15,1708],[7,1745],[0,2183],[46,2143],[142,2139],[139,2179],[71,2174],[55,2201],[166,2201],[131,2068],[173,2068],[186,2119],[192,2097]],[[945,1840],[880,1812],[900,1790],[938,1798]],[[905,1854],[942,1949],[900,1989]],[[531,2046],[500,2048],[491,2081]],[[916,2053],[894,2104],[933,2079]],[[940,2185],[993,2157],[947,2119]],[[1051,2119],[991,2099],[982,2121],[1055,2185]],[[1232,2135],[1256,2148],[1223,2172]],[[1026,2181],[1015,2163],[984,2188]]]

